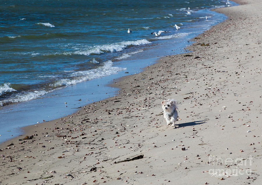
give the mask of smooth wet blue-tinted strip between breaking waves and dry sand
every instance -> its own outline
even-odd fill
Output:
[[[231,3],[233,4],[233,6],[235,6],[235,3]],[[173,43],[173,41],[170,39],[160,39],[166,44],[162,44],[161,47],[159,46],[158,48],[161,48],[158,49],[159,51],[153,48],[146,49],[143,52],[143,55],[139,57],[133,56],[133,58],[129,58],[130,60],[127,61],[116,62],[115,66],[122,68],[126,67],[129,71],[129,75],[141,72],[141,68],[155,63],[155,61],[157,61],[157,56],[184,53],[182,48],[190,45],[190,43],[192,42],[190,40],[194,38],[195,35],[200,34],[204,30],[210,28],[211,25],[214,25],[215,22],[217,24],[217,22],[222,22],[226,19],[225,15],[214,13],[210,9],[199,10],[198,14],[208,14],[213,15],[214,17],[209,20],[205,19],[203,21],[205,22],[205,24],[202,23],[198,30],[192,29],[191,27],[189,28],[189,30],[187,29],[187,31],[185,31],[185,33],[188,33],[186,34],[187,36],[183,37],[183,39],[176,38],[176,43]],[[204,17],[199,18],[201,19]],[[205,29],[203,29],[203,27],[205,27]],[[176,30],[174,32],[176,32]],[[179,35],[180,32],[181,31],[178,31],[177,35]],[[182,34],[183,33],[184,31],[182,30]],[[170,50],[170,48],[172,48],[172,50]],[[154,54],[152,53],[153,50]],[[148,56],[152,56],[153,58],[148,58]],[[106,99],[107,97],[114,96],[116,90],[108,86],[108,84],[112,83],[114,79],[118,79],[122,76],[128,75],[124,73],[124,71],[125,70],[119,71],[116,74],[111,74],[110,76],[105,76],[102,78],[97,78],[95,80],[88,80],[82,83],[74,84],[72,86],[67,86],[66,88],[61,88],[60,90],[55,90],[52,93],[49,93],[48,95],[44,95],[43,97],[26,102],[20,102],[17,105],[7,105],[2,109],[0,107],[0,114],[3,114],[3,116],[0,117],[0,126],[3,127],[1,133],[2,136],[0,136],[0,143],[7,141],[8,139],[15,136],[21,135],[22,131],[20,128],[24,126],[34,125],[42,122],[42,120],[51,121],[63,117],[67,114],[72,114],[72,108],[75,109],[78,107],[83,107],[88,103],[100,101],[101,99]],[[82,86],[84,86],[84,88],[82,88]],[[91,92],[89,91],[89,89],[91,89]],[[89,91],[88,93],[86,93],[87,90]],[[64,104],[65,102],[67,102],[67,107]],[[49,106],[50,104],[51,106]],[[6,127],[4,123],[9,124]]]

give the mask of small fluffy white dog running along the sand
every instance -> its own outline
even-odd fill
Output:
[[[171,126],[174,127],[178,117],[178,107],[176,106],[176,101],[174,99],[167,99],[162,101],[161,103],[167,125],[171,124]]]

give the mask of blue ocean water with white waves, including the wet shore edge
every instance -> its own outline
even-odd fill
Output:
[[[15,128],[114,96],[116,89],[106,87],[112,79],[140,72],[157,56],[183,52],[190,39],[226,19],[210,9],[234,5],[225,0],[2,0],[0,127],[8,127],[0,131],[0,142],[17,135]],[[165,32],[151,34],[159,30]],[[82,101],[61,108],[76,99]]]

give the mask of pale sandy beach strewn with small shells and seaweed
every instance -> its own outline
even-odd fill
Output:
[[[117,96],[1,143],[0,184],[261,184],[262,2],[236,2],[190,52],[114,81]]]

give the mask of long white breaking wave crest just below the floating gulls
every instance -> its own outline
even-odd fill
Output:
[[[136,40],[136,41],[123,41],[123,42],[118,42],[114,44],[109,44],[109,45],[100,45],[100,46],[95,46],[92,48],[87,48],[87,49],[82,49],[80,51],[75,51],[74,54],[79,54],[79,55],[90,55],[90,54],[100,54],[104,52],[118,52],[122,51],[128,46],[138,46],[138,45],[145,45],[149,44],[149,42],[146,39],[141,39],[141,40]]]

